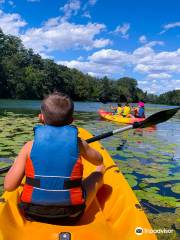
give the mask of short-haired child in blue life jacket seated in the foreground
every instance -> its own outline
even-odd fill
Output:
[[[74,104],[62,93],[46,97],[41,105],[44,125],[34,128],[4,181],[6,191],[15,190],[26,177],[19,207],[26,218],[48,223],[75,223],[103,184],[103,158],[78,138],[73,121]],[[96,165],[83,177],[82,157]]]

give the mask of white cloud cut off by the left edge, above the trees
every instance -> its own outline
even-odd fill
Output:
[[[4,13],[0,10],[0,28],[6,34],[19,35],[27,23],[17,13]]]

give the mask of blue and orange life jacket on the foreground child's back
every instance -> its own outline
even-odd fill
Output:
[[[70,206],[84,203],[78,129],[74,126],[36,126],[21,201]]]

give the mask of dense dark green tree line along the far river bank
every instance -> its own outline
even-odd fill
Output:
[[[180,104],[180,92],[147,94],[137,80],[96,78],[77,69],[43,59],[26,49],[18,37],[0,30],[0,98],[42,99],[53,91],[63,91],[75,101],[115,101]]]

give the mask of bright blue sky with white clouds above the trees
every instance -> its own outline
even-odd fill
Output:
[[[180,89],[179,0],[0,0],[0,28],[44,58],[92,76]]]

